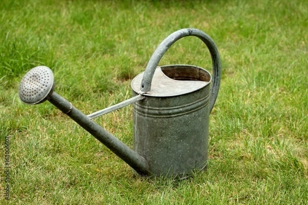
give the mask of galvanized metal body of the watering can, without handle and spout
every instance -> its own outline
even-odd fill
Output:
[[[133,104],[133,146],[147,160],[150,175],[181,178],[205,168],[210,80],[210,74],[196,66],[164,66],[155,72],[152,89],[162,87],[163,81],[169,96],[157,90]],[[133,95],[138,95],[140,82],[141,76],[133,79]]]

